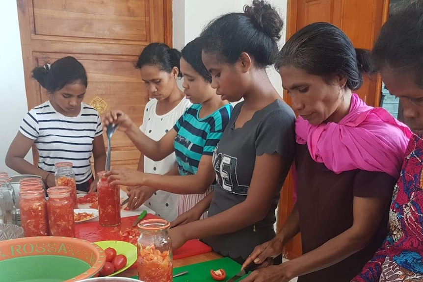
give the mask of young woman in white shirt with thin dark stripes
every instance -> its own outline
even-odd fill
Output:
[[[47,187],[55,185],[54,164],[72,162],[81,191],[95,191],[91,155],[96,171],[104,170],[106,152],[99,113],[82,103],[88,85],[82,64],[74,57],[58,59],[32,70],[49,100],[31,109],[9,147],[6,165],[21,174],[39,175]],[[35,144],[38,165],[24,157]]]

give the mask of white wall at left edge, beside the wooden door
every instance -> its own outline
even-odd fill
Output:
[[[16,1],[1,1],[0,8],[0,171],[15,172],[6,167],[4,158],[27,112],[24,65],[19,35]],[[32,161],[31,153],[26,159]]]

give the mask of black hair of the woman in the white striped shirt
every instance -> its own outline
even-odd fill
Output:
[[[80,81],[88,86],[87,73],[84,66],[74,57],[58,59],[53,64],[36,67],[31,72],[31,77],[36,79],[49,93],[59,91],[65,85]]]

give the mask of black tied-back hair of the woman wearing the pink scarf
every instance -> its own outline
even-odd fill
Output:
[[[363,84],[363,74],[375,72],[370,51],[354,49],[345,33],[329,23],[314,23],[292,35],[276,58],[276,69],[283,66],[303,69],[326,81],[344,76],[353,91]]]

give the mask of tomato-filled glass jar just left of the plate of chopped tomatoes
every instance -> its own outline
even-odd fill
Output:
[[[74,203],[71,188],[56,186],[47,189],[47,214],[51,236],[75,237]]]

